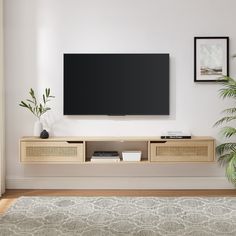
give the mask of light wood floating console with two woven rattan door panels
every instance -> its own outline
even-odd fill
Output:
[[[20,161],[35,164],[95,164],[94,151],[142,151],[140,162],[213,162],[215,141],[211,137],[160,139],[160,137],[58,137],[20,140]],[[108,162],[110,164],[110,162]]]

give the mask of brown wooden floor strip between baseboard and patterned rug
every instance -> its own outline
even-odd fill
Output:
[[[8,189],[0,198],[0,214],[21,196],[236,196],[236,189],[214,190],[13,190]]]

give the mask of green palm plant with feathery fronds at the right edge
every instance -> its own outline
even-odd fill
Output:
[[[235,79],[224,76],[220,79],[222,88],[219,90],[219,96],[222,99],[236,99],[236,81]],[[214,126],[219,126],[222,124],[231,123],[231,125],[224,126],[220,134],[226,138],[233,138],[236,136],[235,123],[232,122],[236,120],[236,107],[230,107],[222,111],[225,115],[220,120],[218,120]],[[218,145],[216,147],[216,153],[219,155],[218,162],[220,165],[225,166],[225,173],[228,180],[236,186],[236,143],[226,142]]]

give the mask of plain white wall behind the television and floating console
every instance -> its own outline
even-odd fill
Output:
[[[97,188],[163,188],[159,180],[166,180],[166,177],[176,177],[170,183],[166,182],[171,188],[177,186],[177,182],[180,188],[230,187],[224,179],[224,170],[217,164],[24,166],[19,163],[18,142],[21,136],[32,134],[34,118],[18,103],[27,97],[30,87],[40,94],[45,87],[50,87],[56,99],[51,103],[53,111],[47,120],[54,135],[157,136],[162,130],[189,129],[193,135],[213,136],[219,142],[218,129],[212,125],[229,104],[218,98],[219,85],[193,82],[193,38],[229,36],[230,55],[235,53],[236,28],[232,26],[236,20],[235,9],[235,0],[5,1],[8,187],[39,187],[37,181],[45,178],[46,182],[40,185],[42,188],[49,187],[46,183],[50,181],[51,187],[56,186],[51,177],[70,177],[70,181],[78,177],[72,186],[78,188],[81,181],[77,180],[87,181],[87,186]],[[63,116],[64,52],[170,53],[171,115]],[[231,75],[235,75],[235,62],[231,59],[230,67]],[[94,176],[98,183],[93,186],[89,178]],[[108,185],[99,178],[104,176],[110,177],[106,178]],[[142,181],[133,178],[134,182],[128,186],[122,185],[123,182],[116,186],[112,185],[112,176],[117,177],[118,182],[125,177],[130,180],[145,176],[146,182],[142,185]],[[209,186],[199,177],[207,177]],[[188,186],[181,185],[183,178],[189,181]],[[31,181],[31,185],[27,181]],[[26,182],[28,185],[25,186]],[[57,183],[57,187],[66,187],[63,181]]]

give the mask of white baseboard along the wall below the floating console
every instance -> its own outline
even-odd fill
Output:
[[[225,177],[27,177],[7,189],[234,189]]]

